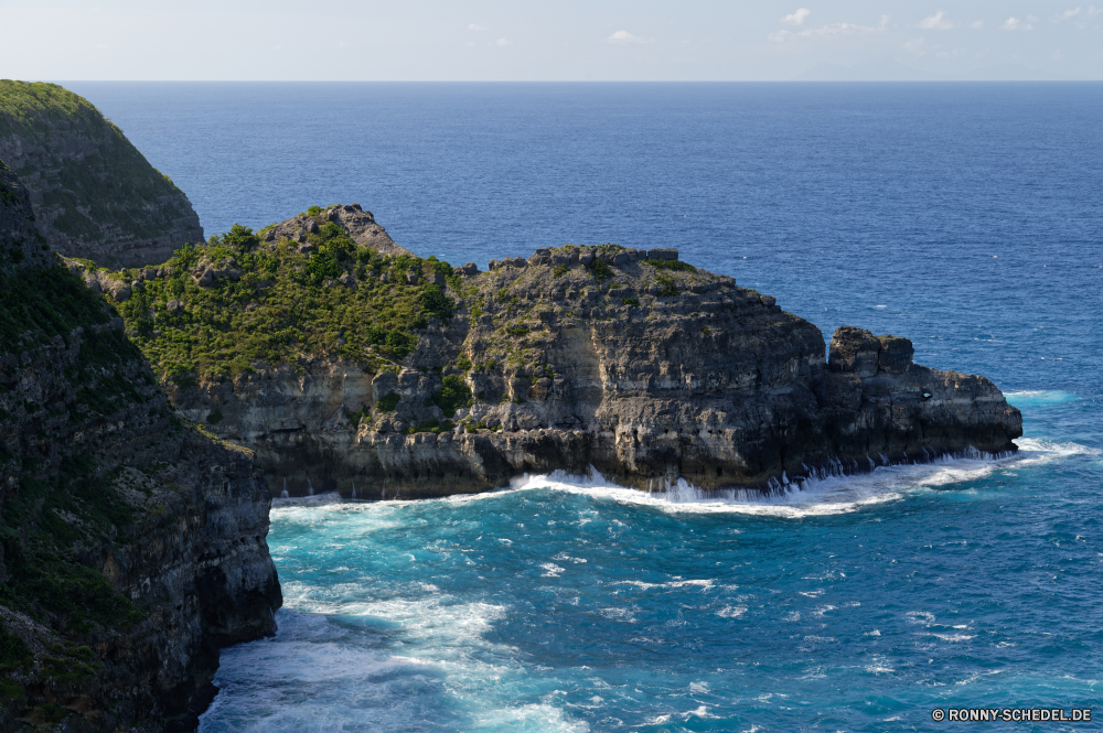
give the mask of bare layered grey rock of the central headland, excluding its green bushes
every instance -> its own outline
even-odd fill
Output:
[[[460,272],[453,317],[398,363],[317,354],[171,399],[255,450],[277,496],[439,496],[590,466],[636,487],[765,489],[1014,451],[1021,434],[984,377],[850,327],[825,362],[813,324],[676,250],[567,246]]]

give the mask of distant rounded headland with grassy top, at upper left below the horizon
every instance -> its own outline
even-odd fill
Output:
[[[203,241],[188,196],[92,104],[57,85],[0,80],[0,159],[63,255],[137,267]]]

